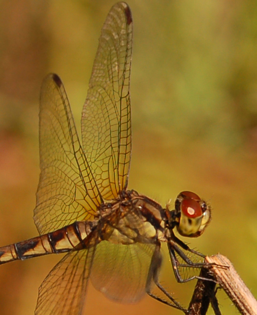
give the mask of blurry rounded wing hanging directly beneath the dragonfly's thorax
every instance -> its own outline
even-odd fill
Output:
[[[101,242],[96,247],[90,276],[94,287],[117,302],[139,301],[146,291],[155,247],[154,244]]]

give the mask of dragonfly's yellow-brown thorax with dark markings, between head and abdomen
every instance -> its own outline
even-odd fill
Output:
[[[126,245],[155,243],[163,236],[163,215],[164,210],[154,200],[134,190],[123,192],[99,210],[101,240]]]

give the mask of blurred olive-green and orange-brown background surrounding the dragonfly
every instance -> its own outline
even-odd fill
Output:
[[[37,235],[42,78],[61,76],[80,129],[100,29],[114,3],[0,1],[0,246]],[[128,188],[163,206],[182,190],[210,202],[206,232],[183,240],[227,256],[257,296],[257,2],[128,4],[134,21]],[[60,258],[0,266],[1,315],[34,314],[38,287]],[[161,280],[188,305],[195,282],[175,283],[167,257]],[[218,299],[223,314],[238,314],[225,294]],[[92,315],[181,314],[147,296],[136,305],[115,304],[92,285],[86,303]]]

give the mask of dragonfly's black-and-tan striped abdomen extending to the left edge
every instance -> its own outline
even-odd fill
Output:
[[[86,239],[91,231],[90,222],[74,222],[54,232],[0,247],[0,264],[86,248]]]

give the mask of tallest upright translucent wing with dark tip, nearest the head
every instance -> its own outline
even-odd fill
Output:
[[[131,12],[119,2],[102,27],[81,121],[84,152],[105,200],[128,184],[131,50]]]

